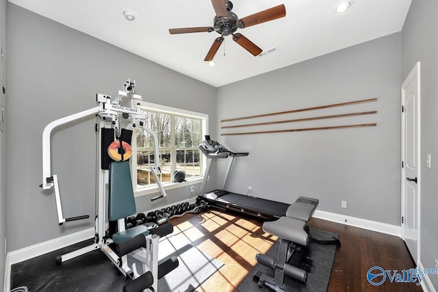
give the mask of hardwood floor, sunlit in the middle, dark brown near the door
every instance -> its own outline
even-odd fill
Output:
[[[236,291],[256,265],[255,254],[266,253],[276,237],[261,230],[262,222],[240,216],[206,211],[172,219],[175,237],[185,237],[224,266],[196,291]],[[374,266],[401,271],[415,267],[399,237],[312,218],[309,226],[339,234],[328,291],[422,291],[414,283],[386,280],[373,286],[367,280]],[[252,292],[252,291],[251,291]]]

